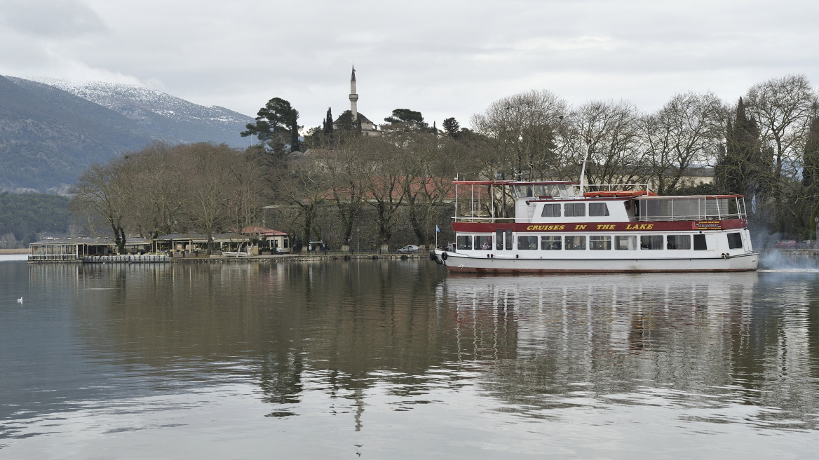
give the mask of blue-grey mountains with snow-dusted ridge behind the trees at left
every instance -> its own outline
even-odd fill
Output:
[[[0,76],[0,192],[64,193],[92,162],[154,140],[244,147],[251,117],[116,83]]]

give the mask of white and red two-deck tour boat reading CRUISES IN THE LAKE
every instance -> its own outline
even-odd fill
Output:
[[[453,273],[757,269],[741,195],[657,196],[647,185],[586,192],[564,181],[454,184],[455,243],[430,251]]]

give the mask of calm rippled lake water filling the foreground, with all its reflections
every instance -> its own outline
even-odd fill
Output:
[[[817,271],[0,261],[4,459],[815,458],[817,447]]]

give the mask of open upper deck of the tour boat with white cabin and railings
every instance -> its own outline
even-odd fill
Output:
[[[467,186],[468,189],[458,190]],[[643,186],[455,181],[454,222],[562,223],[746,219],[741,195],[657,196]],[[630,187],[630,188],[627,188]]]

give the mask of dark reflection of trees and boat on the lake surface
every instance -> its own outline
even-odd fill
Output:
[[[29,279],[71,299],[88,353],[139,369],[143,390],[251,381],[270,417],[317,395],[360,430],[373,392],[403,411],[477,388],[520,417],[659,404],[817,428],[817,273],[460,277],[425,262],[34,265]],[[753,410],[715,415],[737,405]]]

